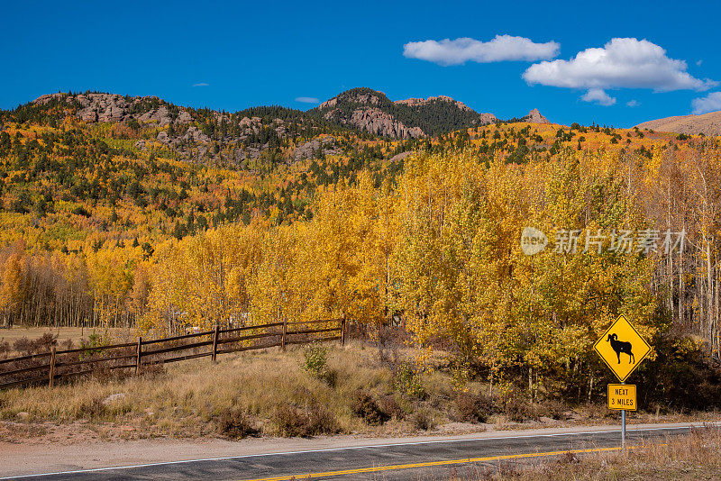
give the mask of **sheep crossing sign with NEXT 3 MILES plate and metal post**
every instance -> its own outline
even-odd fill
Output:
[[[621,411],[621,446],[625,447],[625,412],[636,410],[636,386],[625,384],[635,368],[651,352],[633,324],[623,315],[613,322],[596,341],[593,349],[616,375],[620,385],[608,385],[608,409]]]

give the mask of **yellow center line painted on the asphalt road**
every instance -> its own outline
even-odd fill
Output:
[[[636,449],[638,446],[629,446],[626,449]],[[342,469],[339,471],[325,471],[323,473],[304,473],[298,475],[287,475],[287,476],[275,476],[275,477],[259,477],[256,479],[248,479],[246,481],[288,481],[290,479],[311,479],[314,477],[324,476],[338,476],[338,475],[356,475],[360,473],[377,473],[379,471],[392,471],[394,469],[410,469],[412,467],[434,467],[434,466],[446,466],[452,464],[464,464],[464,463],[480,463],[484,461],[503,461],[507,459],[521,459],[521,458],[540,458],[543,456],[559,456],[561,454],[572,453],[572,454],[583,454],[591,452],[603,452],[603,451],[617,451],[623,449],[617,448],[593,448],[593,449],[572,449],[564,451],[548,451],[538,453],[523,453],[523,454],[507,454],[501,456],[489,456],[487,458],[462,458],[462,459],[448,459],[445,461],[427,461],[424,463],[412,463],[412,464],[397,464],[390,466],[378,466],[378,467],[358,467],[355,469]]]

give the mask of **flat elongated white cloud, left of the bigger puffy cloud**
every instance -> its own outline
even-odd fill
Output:
[[[496,35],[491,41],[477,41],[468,37],[442,41],[410,41],[403,46],[403,56],[448,66],[467,61],[488,63],[552,59],[558,55],[560,47],[555,41],[535,43],[525,37]]]

